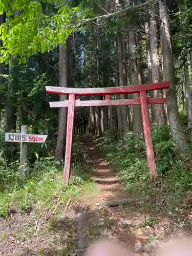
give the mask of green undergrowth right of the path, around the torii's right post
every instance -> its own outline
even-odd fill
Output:
[[[192,164],[190,159],[181,158],[177,154],[167,125],[158,127],[154,124],[152,138],[159,175],[154,182],[148,175],[145,143],[142,137],[138,140],[132,133],[128,133],[122,140],[117,141],[105,133],[103,137],[96,139],[96,143],[104,153],[105,159],[119,171],[120,181],[127,193],[145,197],[155,202],[156,209],[159,204],[169,212],[181,203],[186,194],[190,194]],[[190,205],[187,204],[186,207]]]

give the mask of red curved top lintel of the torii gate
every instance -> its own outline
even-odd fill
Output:
[[[50,94],[75,94],[76,96],[96,96],[107,94],[131,94],[142,91],[154,91],[168,89],[170,81],[157,82],[151,84],[142,84],[139,86],[106,87],[106,88],[66,88],[46,86],[47,93]]]

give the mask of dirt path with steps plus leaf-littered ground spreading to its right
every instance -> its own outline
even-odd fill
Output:
[[[136,195],[127,194],[120,183],[118,172],[111,167],[110,162],[104,160],[99,147],[93,142],[86,142],[84,146],[90,152],[89,162],[95,169],[92,179],[96,181],[98,191],[89,200],[82,198],[81,203],[86,212],[83,231],[88,243],[101,237],[111,238],[132,248],[135,255],[147,256],[152,255],[154,247],[161,246],[164,239],[183,234],[185,224],[179,218],[178,224],[175,222],[177,217],[170,212],[159,212],[157,216],[156,210],[161,210],[162,199],[154,211],[152,198],[146,202],[145,198],[137,200]],[[163,197],[165,199],[165,195]],[[103,201],[121,199],[135,200],[116,207],[102,204]],[[146,203],[147,210],[152,208],[154,215],[146,213]]]

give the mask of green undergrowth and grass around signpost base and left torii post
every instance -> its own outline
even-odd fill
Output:
[[[76,160],[86,152],[74,150]],[[7,164],[0,157],[0,216],[31,212],[33,210],[58,211],[60,205],[70,199],[76,201],[81,194],[95,193],[95,183],[89,179],[91,166],[82,159],[72,164],[72,178],[67,187],[63,186],[63,169],[53,157],[38,158],[26,174],[25,184],[19,182],[18,163]]]

